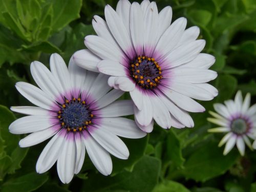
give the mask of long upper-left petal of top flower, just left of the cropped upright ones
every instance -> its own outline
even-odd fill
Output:
[[[130,4],[130,2],[129,2]],[[131,5],[131,4],[130,4]],[[129,7],[130,9],[130,7]],[[126,9],[124,9],[126,10]],[[126,12],[122,13],[124,17],[127,17]],[[129,10],[130,14],[130,10]],[[130,16],[127,17],[127,19],[130,20]],[[132,42],[129,33],[127,32],[126,27],[124,26],[124,23],[120,16],[115,12],[115,10],[109,6],[105,6],[105,18],[106,23],[108,24],[110,31],[112,35],[115,37],[117,43],[122,48],[122,50],[129,56],[129,58],[133,58],[132,52],[130,50],[132,47]],[[126,23],[126,25],[129,25],[130,22]],[[130,27],[129,27],[130,28]]]

